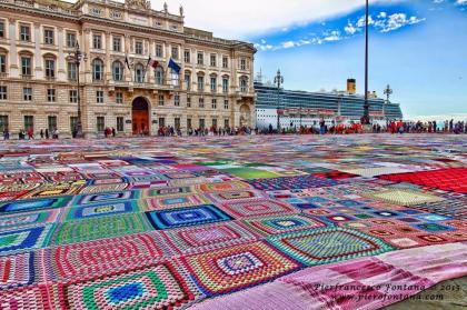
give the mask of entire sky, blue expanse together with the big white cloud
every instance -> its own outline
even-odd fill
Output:
[[[467,119],[467,0],[369,0],[370,90],[406,117],[464,113]],[[185,8],[188,27],[258,47],[256,70],[285,87],[342,90],[357,79],[364,93],[365,0],[167,0]],[[162,9],[163,1],[152,0]]]

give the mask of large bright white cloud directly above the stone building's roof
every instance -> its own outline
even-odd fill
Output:
[[[403,0],[391,0],[397,1]],[[162,9],[163,1],[151,2],[153,9]],[[167,0],[167,3],[172,13],[178,13],[180,3],[183,6],[187,27],[212,31],[216,37],[241,39],[346,14],[361,8],[365,1]]]

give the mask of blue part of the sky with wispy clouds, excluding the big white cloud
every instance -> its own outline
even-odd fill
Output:
[[[256,70],[285,87],[364,93],[364,7],[311,22],[246,36],[257,44]],[[377,1],[370,7],[369,88],[394,89],[407,117],[466,113],[467,0]]]

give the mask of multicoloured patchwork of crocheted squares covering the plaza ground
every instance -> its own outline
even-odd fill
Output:
[[[179,309],[299,270],[332,283],[332,272],[314,268],[358,269],[352,260],[378,267],[356,271],[361,282],[394,268],[378,264],[393,253],[430,266],[438,256],[417,257],[423,249],[467,242],[463,138],[3,142],[0,300],[26,309]]]

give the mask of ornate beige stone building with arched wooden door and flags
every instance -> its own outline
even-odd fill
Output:
[[[86,53],[79,67],[77,42]],[[185,27],[183,9],[172,14],[167,4],[0,0],[0,131],[71,136],[78,96],[87,136],[106,127],[121,136],[255,127],[255,52]]]

